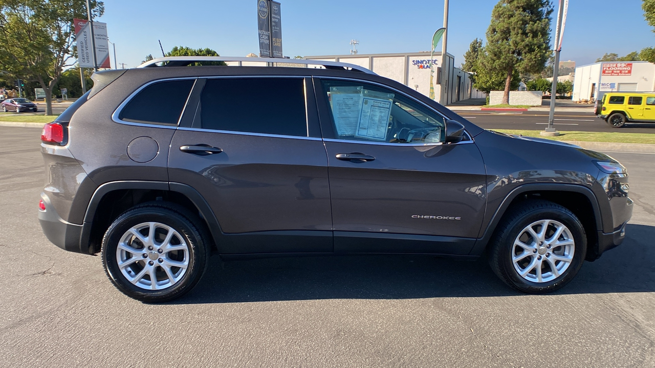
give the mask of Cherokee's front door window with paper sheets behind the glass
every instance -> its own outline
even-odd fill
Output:
[[[444,119],[407,96],[375,84],[322,80],[335,138],[387,143],[439,143]]]

